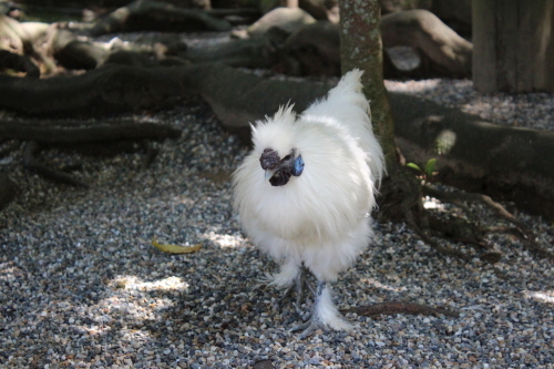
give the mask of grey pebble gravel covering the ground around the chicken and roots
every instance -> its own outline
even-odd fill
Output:
[[[552,95],[480,96],[468,81],[388,86],[499,123],[552,129]],[[81,162],[75,175],[89,189],[22,171],[21,152],[2,161],[21,193],[0,213],[0,368],[554,368],[552,264],[499,235],[489,239],[503,253],[497,264],[461,263],[403,224],[376,222],[371,247],[335,285],[339,307],[402,300],[460,317],[348,314],[353,332],[298,340],[289,331],[300,321],[291,301],[278,311],[280,291],[258,286],[276,266],[232,212],[228,178],[247,148],[203,103],[147,120],[183,129],[179,140],[158,144],[148,170],[140,151],[109,158],[43,153],[54,166]],[[454,212],[434,199],[427,206]],[[483,224],[502,224],[472,208]],[[517,218],[553,248],[552,224]],[[154,237],[202,247],[164,254]]]

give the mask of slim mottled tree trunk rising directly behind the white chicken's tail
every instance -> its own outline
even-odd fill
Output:
[[[387,166],[397,162],[394,123],[389,95],[382,76],[382,43],[379,23],[381,4],[378,0],[339,1],[340,59],[342,74],[358,68],[363,70],[363,92],[370,101],[373,131],[379,137]]]

